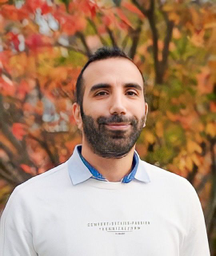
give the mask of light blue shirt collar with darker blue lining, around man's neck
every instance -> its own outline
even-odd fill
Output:
[[[102,174],[98,172],[90,163],[82,159],[81,145],[74,148],[74,154],[68,160],[68,170],[70,174],[71,182],[76,185],[81,182],[85,182],[89,178],[97,178],[108,182]],[[149,175],[147,174],[145,167],[142,166],[138,153],[134,152],[133,166],[130,174],[122,178],[122,183],[128,183],[131,180],[136,179],[140,182],[150,182]]]

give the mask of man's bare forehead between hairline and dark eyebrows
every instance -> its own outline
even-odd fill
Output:
[[[85,87],[94,86],[99,82],[110,85],[136,82],[143,86],[138,67],[126,58],[107,58],[92,62],[83,72],[83,79]]]

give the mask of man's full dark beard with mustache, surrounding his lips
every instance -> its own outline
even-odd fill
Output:
[[[109,130],[109,123],[130,123],[127,130]],[[94,154],[102,158],[122,158],[133,148],[142,132],[145,116],[140,120],[122,115],[99,117],[95,120],[82,112],[83,133]]]

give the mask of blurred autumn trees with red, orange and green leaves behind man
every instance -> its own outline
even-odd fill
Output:
[[[216,255],[216,2],[0,0],[0,210],[14,186],[65,162],[81,142],[76,78],[100,46],[118,46],[146,79],[137,150],[187,178]]]

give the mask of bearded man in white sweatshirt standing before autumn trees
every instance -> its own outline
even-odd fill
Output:
[[[134,150],[148,106],[138,67],[101,48],[78,77],[82,146],[11,194],[1,256],[208,256],[202,207],[185,178]]]

